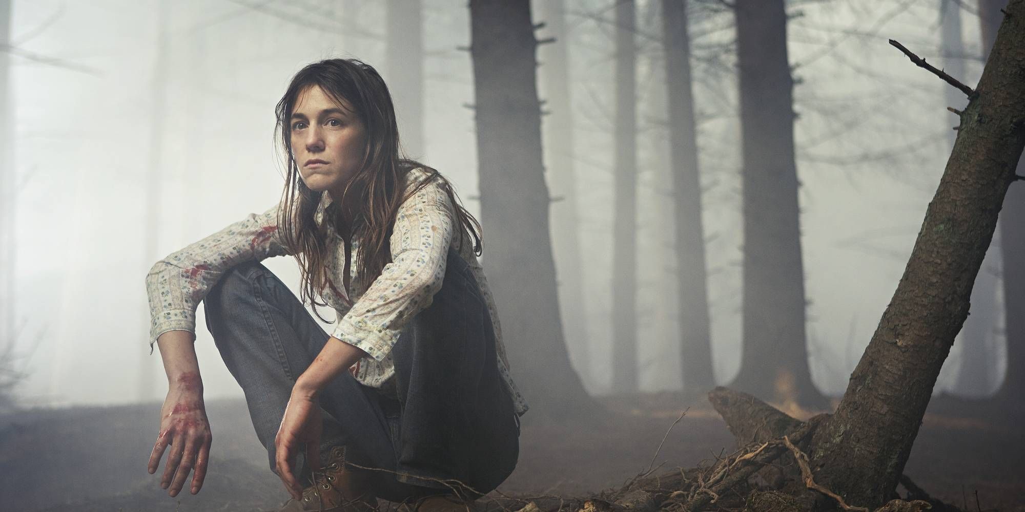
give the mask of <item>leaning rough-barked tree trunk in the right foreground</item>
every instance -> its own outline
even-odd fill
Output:
[[[816,481],[851,505],[871,509],[894,492],[1015,180],[1025,145],[1025,0],[1007,11],[904,275],[836,413],[813,437]]]

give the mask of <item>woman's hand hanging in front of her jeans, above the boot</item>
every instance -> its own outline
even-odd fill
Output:
[[[278,476],[296,500],[302,498],[302,485],[292,474],[292,460],[299,453],[299,444],[305,444],[306,464],[311,469],[320,469],[320,439],[323,429],[316,391],[296,384],[274,439]]]

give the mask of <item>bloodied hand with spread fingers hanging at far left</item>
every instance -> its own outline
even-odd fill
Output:
[[[194,495],[199,493],[206,477],[212,439],[199,374],[186,374],[176,378],[160,410],[160,434],[150,455],[150,474],[157,471],[164,451],[170,445],[172,449],[167,456],[160,486],[169,487],[168,495],[177,496],[190,470],[195,468],[191,490]]]

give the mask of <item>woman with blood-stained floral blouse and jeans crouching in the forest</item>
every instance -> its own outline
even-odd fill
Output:
[[[203,300],[292,496],[282,510],[361,510],[376,498],[464,510],[511,472],[527,409],[478,263],[480,225],[436,170],[401,157],[387,87],[370,66],[306,66],[276,114],[288,168],[279,205],[147,276],[151,350],[170,383],[149,471],[167,451],[161,486],[172,497],[191,469],[193,494],[206,474],[193,347]],[[302,302],[259,263],[281,255],[299,262]],[[336,310],[330,336],[306,299],[315,312]]]

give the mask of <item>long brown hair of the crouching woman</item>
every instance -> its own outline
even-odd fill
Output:
[[[314,191],[302,181],[291,144],[292,109],[299,94],[313,86],[319,86],[338,104],[347,101],[367,133],[359,170],[345,185],[341,199],[325,209],[320,222],[316,214],[325,193]],[[384,265],[392,262],[389,238],[399,207],[432,182],[445,190],[455,208],[458,225],[454,227],[460,247],[468,232],[474,238],[474,252],[481,255],[481,224],[462,207],[452,185],[436,169],[402,154],[392,95],[370,65],[355,58],[330,58],[302,68],[278,101],[275,114],[278,118],[276,132],[288,169],[278,211],[278,230],[282,243],[299,261],[300,300],[305,303],[309,298],[314,313],[322,321],[317,306],[327,304],[317,302],[315,297],[329,283],[326,261],[330,237],[338,233],[345,240],[353,237],[360,240],[361,250],[355,268],[357,284],[366,290],[380,275]],[[407,194],[407,175],[415,168],[424,169],[428,176]],[[354,194],[352,198],[350,190]],[[346,225],[342,220],[341,204],[350,201],[356,202],[357,207],[352,225]]]

